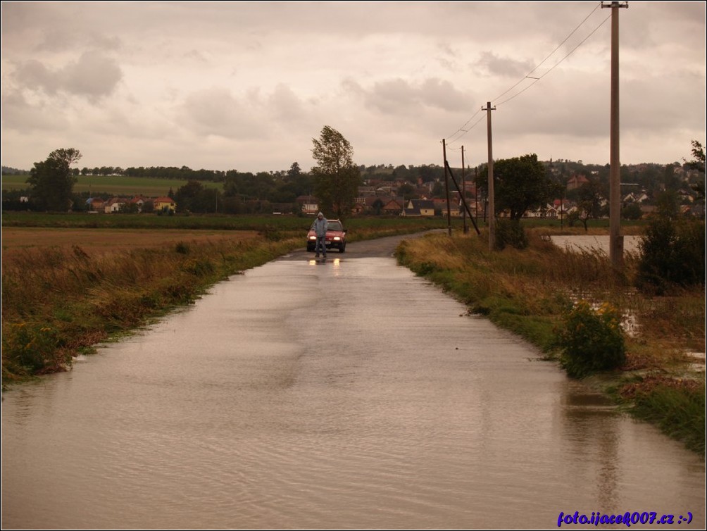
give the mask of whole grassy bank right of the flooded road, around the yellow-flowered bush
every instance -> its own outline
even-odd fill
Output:
[[[550,231],[528,231],[525,250],[490,252],[477,235],[429,235],[399,245],[399,262],[558,359],[557,337],[580,299],[609,303],[624,316],[626,363],[588,378],[621,407],[657,424],[699,453],[705,450],[704,373],[690,370],[688,351],[705,351],[705,293],[680,291],[653,298],[631,288],[637,258],[617,274],[605,255],[568,252]]]

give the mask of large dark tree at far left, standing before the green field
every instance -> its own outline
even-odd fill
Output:
[[[42,210],[67,211],[71,209],[71,193],[76,177],[71,164],[81,158],[74,148],[57,149],[47,160],[35,163],[27,182],[31,187],[33,202]]]

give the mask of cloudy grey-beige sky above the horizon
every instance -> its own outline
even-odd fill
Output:
[[[706,136],[705,2],[619,10],[621,163]],[[609,162],[600,2],[3,1],[1,158],[308,170],[326,125],[358,164]],[[510,90],[509,90],[510,89]]]

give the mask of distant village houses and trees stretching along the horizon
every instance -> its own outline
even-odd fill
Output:
[[[573,163],[562,160],[544,164],[554,182],[559,183],[564,189],[564,193],[562,197],[556,197],[537,209],[526,211],[525,218],[563,219],[573,216],[573,213],[576,215],[578,210],[577,194],[573,192],[592,181],[607,182],[608,165],[583,165],[581,161]],[[97,214],[156,213],[175,215],[188,212],[216,212],[313,216],[321,209],[314,195],[311,192],[296,195],[298,189],[311,190],[310,177],[299,171],[297,163],[293,164],[293,168],[297,170],[295,173],[291,169],[288,172],[262,172],[255,175],[238,173],[235,170],[230,170],[224,175],[213,175],[220,174],[218,172],[204,175],[206,170],[199,170],[199,175],[192,177],[187,173],[182,177],[188,180],[188,185],[180,187],[175,193],[170,189],[170,193],[163,197],[141,195],[107,197],[106,194],[86,197],[84,195],[83,198],[78,196],[75,198],[73,209]],[[140,169],[142,170],[142,168]],[[184,170],[189,170],[189,168],[180,168],[180,171]],[[459,177],[460,170],[455,170],[455,172]],[[82,171],[82,175],[86,175],[86,173]],[[127,172],[126,175],[128,175]],[[446,216],[449,213],[450,216],[458,217],[468,209],[472,216],[484,218],[486,216],[485,192],[484,189],[477,190],[473,173],[467,173],[467,179],[463,185],[466,209],[462,202],[462,194],[451,182],[449,194],[447,194],[443,175],[443,168],[437,165],[419,167],[400,165],[397,168],[392,165],[361,166],[363,185],[358,187],[351,215],[433,217]],[[202,180],[223,181],[223,192],[214,187],[204,187],[201,184]],[[269,188],[261,187],[258,190],[247,188],[247,186],[254,187],[254,183],[258,180],[267,182]],[[704,174],[696,175],[694,170],[685,168],[679,163],[622,166],[621,203],[624,209],[629,209],[632,212],[633,218],[650,216],[657,208],[658,195],[669,188],[674,192],[675,200],[683,214],[703,217],[703,192],[700,197],[701,194],[696,192],[694,186],[694,182],[700,181],[703,190]],[[457,184],[462,187],[462,182]],[[287,194],[283,193],[285,189]],[[4,210],[22,209],[22,204],[25,205],[25,209],[27,208],[29,198],[26,196],[14,198],[15,203],[20,202],[19,208],[9,207],[8,200],[12,199],[9,195],[11,194],[7,194],[4,190]],[[292,199],[283,200],[286,196]],[[78,199],[81,200],[80,204]],[[608,214],[607,204],[607,198],[601,197],[600,206],[605,206]],[[504,213],[501,212],[499,215],[503,216]]]

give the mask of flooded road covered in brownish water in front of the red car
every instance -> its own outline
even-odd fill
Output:
[[[6,392],[3,528],[705,526],[698,456],[365,249],[234,276]]]

